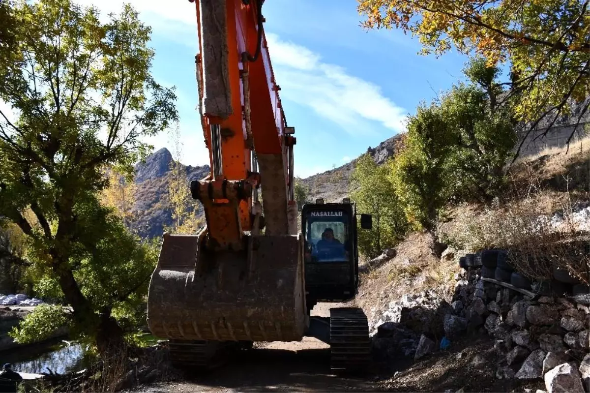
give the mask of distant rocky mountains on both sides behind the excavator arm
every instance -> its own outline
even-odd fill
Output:
[[[382,164],[394,155],[400,148],[402,135],[393,136],[375,148],[368,148],[367,152]],[[350,175],[355,168],[357,159],[317,175],[303,179],[310,188],[310,199],[324,198],[326,202],[340,201],[349,194]],[[146,158],[145,162],[135,166],[135,220],[132,230],[142,238],[159,237],[164,228],[172,224],[172,211],[169,207],[168,184],[171,175],[170,164],[172,154],[162,148]],[[189,192],[191,180],[202,179],[209,174],[209,166],[185,166],[186,192]],[[202,215],[202,207],[195,202],[197,215]]]

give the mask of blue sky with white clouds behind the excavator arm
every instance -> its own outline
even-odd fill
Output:
[[[119,11],[117,0],[78,0]],[[176,86],[182,156],[208,163],[198,112],[194,57],[198,50],[194,3],[130,1],[152,26],[153,73]],[[340,166],[369,146],[403,132],[404,117],[421,100],[461,77],[466,57],[419,55],[417,38],[397,30],[366,31],[356,0],[267,0],[263,7],[271,61],[290,126],[296,129],[296,175]],[[172,151],[167,133],[149,139]]]

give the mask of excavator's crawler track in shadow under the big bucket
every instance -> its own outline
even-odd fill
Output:
[[[169,340],[169,358],[177,369],[190,369],[192,372],[209,371],[225,365],[230,354],[237,351],[237,342],[205,340]]]

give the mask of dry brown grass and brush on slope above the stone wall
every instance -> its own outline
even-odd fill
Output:
[[[590,148],[590,139],[582,141]],[[546,154],[552,153],[552,155]],[[510,169],[511,189],[493,205],[461,205],[439,231],[455,248],[509,250],[513,264],[532,279],[563,268],[588,283],[589,234],[576,223],[576,206],[589,200],[590,153],[543,152]]]

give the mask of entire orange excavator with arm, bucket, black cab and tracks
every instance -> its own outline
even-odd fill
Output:
[[[195,2],[195,0],[189,0]],[[264,36],[264,0],[196,0],[196,79],[211,173],[192,180],[204,207],[198,234],[164,234],[148,324],[176,366],[210,368],[254,342],[329,343],[335,371],[369,362],[362,309],[311,316],[358,287],[357,214],[345,198],[294,198],[294,128],[287,126]],[[188,192],[188,190],[187,190]],[[264,201],[261,201],[263,192]],[[360,214],[360,227],[371,216]]]

